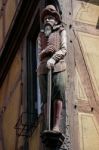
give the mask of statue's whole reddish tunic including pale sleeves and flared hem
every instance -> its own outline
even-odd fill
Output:
[[[61,72],[66,69],[64,57],[67,52],[66,31],[63,27],[54,30],[47,38],[44,32],[39,34],[40,43],[40,64],[38,66],[38,74],[47,74],[47,60],[53,58],[56,64],[53,72]]]

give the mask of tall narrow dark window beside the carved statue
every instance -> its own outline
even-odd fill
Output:
[[[36,18],[39,18],[37,16]],[[40,94],[37,79],[37,37],[39,21],[35,19],[27,38],[27,122],[35,126],[40,114]]]

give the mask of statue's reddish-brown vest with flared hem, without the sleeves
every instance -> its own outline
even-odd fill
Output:
[[[40,51],[44,50],[48,46],[52,45],[55,51],[59,51],[61,49],[61,30],[58,29],[50,34],[47,38],[44,32],[40,32],[39,39],[40,39]],[[46,66],[47,60],[51,58],[51,55],[46,55],[41,61],[38,66],[38,74],[46,74],[48,72],[48,68]],[[66,63],[64,59],[60,60],[58,63],[55,64],[53,68],[53,72],[60,72],[66,69]]]

